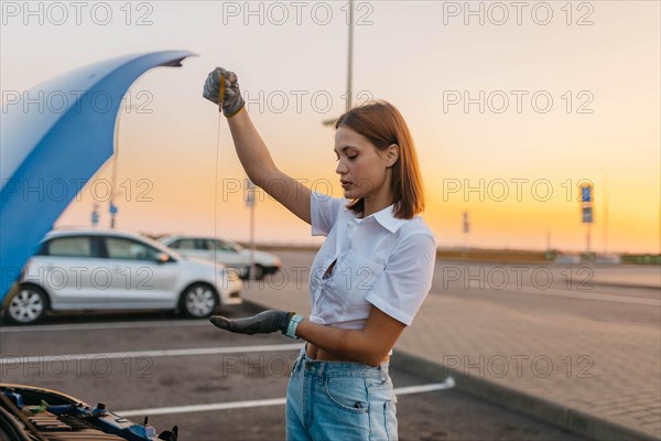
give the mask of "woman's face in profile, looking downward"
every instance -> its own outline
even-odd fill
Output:
[[[344,197],[370,197],[390,191],[387,182],[388,155],[362,135],[340,126],[335,131],[335,154]]]

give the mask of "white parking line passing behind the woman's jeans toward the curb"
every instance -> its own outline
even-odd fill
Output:
[[[394,394],[398,396],[431,392],[434,390],[451,389],[455,386],[454,378],[447,377],[443,383],[433,383],[430,385],[419,385],[409,387],[395,387]],[[228,409],[246,409],[250,407],[263,406],[283,406],[286,398],[271,398],[261,400],[245,400],[245,401],[228,401],[214,402],[209,405],[192,405],[192,406],[175,406],[175,407],[158,407],[153,409],[132,409],[118,410],[117,413],[122,417],[151,417],[154,415],[174,415],[187,412],[208,412],[212,410],[228,410]]]

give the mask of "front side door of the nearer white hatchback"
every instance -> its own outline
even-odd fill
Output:
[[[129,237],[106,236],[104,249],[112,283],[108,309],[173,308],[178,297],[178,265],[159,262],[162,251]]]

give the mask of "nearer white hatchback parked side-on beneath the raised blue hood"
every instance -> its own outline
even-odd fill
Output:
[[[33,323],[48,310],[175,310],[207,318],[241,303],[242,288],[236,271],[139,234],[56,229],[23,269],[8,316]]]

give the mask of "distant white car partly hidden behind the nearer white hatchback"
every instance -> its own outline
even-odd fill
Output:
[[[242,278],[250,273],[250,250],[239,244],[214,237],[165,236],[161,244],[173,248],[184,256],[216,261],[236,269]],[[214,256],[215,251],[215,256]],[[282,261],[278,256],[264,251],[254,251],[254,278],[278,272]]]

